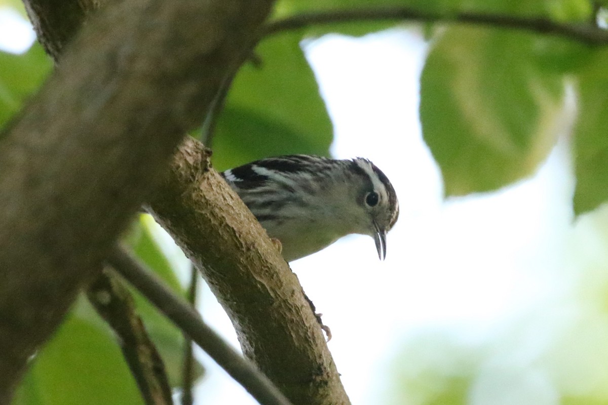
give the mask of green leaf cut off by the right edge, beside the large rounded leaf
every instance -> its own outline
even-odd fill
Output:
[[[574,128],[576,214],[608,200],[608,50],[600,49],[578,76],[578,117]]]

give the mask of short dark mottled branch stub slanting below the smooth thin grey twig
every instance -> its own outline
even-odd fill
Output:
[[[120,349],[145,403],[173,404],[165,365],[135,311],[131,293],[120,279],[104,270],[87,290],[87,296],[119,338]]]

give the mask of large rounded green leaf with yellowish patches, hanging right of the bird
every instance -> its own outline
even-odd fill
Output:
[[[459,27],[431,50],[420,117],[446,194],[519,180],[553,147],[563,84],[534,63],[538,41],[525,33]]]

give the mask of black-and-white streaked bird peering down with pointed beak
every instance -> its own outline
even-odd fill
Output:
[[[348,234],[370,235],[380,259],[399,216],[389,179],[364,158],[334,160],[288,155],[222,173],[288,262],[322,250]]]

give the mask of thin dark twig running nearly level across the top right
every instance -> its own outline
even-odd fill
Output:
[[[418,21],[418,22],[461,22],[482,26],[520,29],[531,32],[559,35],[576,39],[591,45],[608,44],[608,32],[589,24],[562,24],[541,17],[517,17],[511,15],[485,13],[430,13],[410,7],[387,7],[375,9],[333,10],[311,12],[291,16],[269,23],[264,35],[269,36],[286,30],[308,26],[336,24],[354,21]]]

